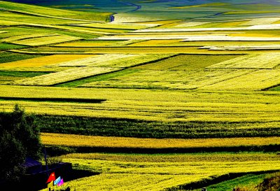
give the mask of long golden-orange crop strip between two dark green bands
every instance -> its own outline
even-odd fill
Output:
[[[279,137],[223,139],[139,139],[129,137],[84,136],[42,133],[43,144],[49,146],[109,147],[109,148],[211,148],[232,146],[267,146],[280,144]]]

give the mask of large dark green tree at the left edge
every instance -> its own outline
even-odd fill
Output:
[[[15,105],[12,113],[0,113],[0,180],[19,181],[27,157],[38,159],[41,141],[34,115]]]

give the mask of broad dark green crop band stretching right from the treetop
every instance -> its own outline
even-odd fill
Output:
[[[269,124],[268,122],[155,122],[129,119],[117,120],[114,118],[38,116],[38,126],[41,128],[41,132],[142,138],[278,136],[280,129],[274,127],[276,124]],[[267,127],[263,129],[258,128],[265,126]],[[225,131],[224,129],[227,130]]]

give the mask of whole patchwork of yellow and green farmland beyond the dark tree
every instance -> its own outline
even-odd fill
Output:
[[[24,3],[0,1],[0,109],[34,113],[54,160],[98,174],[71,190],[280,170],[278,2]]]

